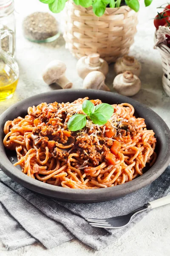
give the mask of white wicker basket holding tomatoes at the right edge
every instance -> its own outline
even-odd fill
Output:
[[[169,27],[159,26],[155,33],[155,49],[158,49],[162,58],[162,84],[165,92],[170,96],[170,48],[166,45],[166,36],[170,35]]]

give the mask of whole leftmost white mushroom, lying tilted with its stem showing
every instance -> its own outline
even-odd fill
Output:
[[[44,69],[42,78],[46,84],[57,83],[63,89],[72,87],[72,83],[65,77],[66,65],[62,61],[51,61]]]

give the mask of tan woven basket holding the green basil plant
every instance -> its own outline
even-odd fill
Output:
[[[65,6],[65,47],[76,57],[99,53],[108,63],[125,55],[136,34],[137,14],[128,6],[106,8],[102,17],[94,15],[92,7]]]

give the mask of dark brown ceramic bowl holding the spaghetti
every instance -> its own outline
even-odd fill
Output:
[[[67,189],[34,180],[21,172],[20,167],[17,168],[13,166],[13,163],[17,160],[16,153],[15,151],[6,150],[3,145],[3,126],[7,120],[12,120],[17,116],[25,116],[29,106],[36,106],[41,102],[72,102],[75,99],[84,98],[86,96],[88,96],[89,99],[101,99],[102,102],[109,104],[127,102],[133,105],[135,108],[135,116],[144,118],[147,128],[155,132],[157,139],[156,152],[158,156],[151,168],[146,166],[142,176],[115,187],[101,189]],[[11,161],[12,158],[14,158],[14,161]],[[8,110],[0,116],[0,169],[11,177],[11,179],[20,183],[27,189],[62,201],[94,203],[122,197],[156,180],[156,178],[164,172],[169,163],[170,130],[166,123],[150,108],[117,93],[99,90],[55,90],[48,93],[41,93],[18,102],[11,108],[8,108]]]

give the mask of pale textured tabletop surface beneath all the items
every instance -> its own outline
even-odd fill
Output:
[[[38,0],[14,0],[17,18],[17,51],[16,59],[20,67],[20,81],[12,99],[0,102],[0,113],[12,104],[28,96],[48,90],[55,90],[42,81],[42,69],[53,59],[65,61],[66,75],[74,83],[74,88],[82,87],[82,79],[77,76],[77,60],[65,49],[62,37],[48,44],[35,44],[23,37],[21,22],[23,17],[34,11],[45,11],[47,5]],[[170,97],[166,96],[161,86],[161,57],[153,49],[154,26],[152,18],[156,15],[156,7],[164,0],[154,0],[153,4],[144,9],[143,2],[139,12],[138,32],[130,54],[136,56],[142,63],[142,89],[134,96],[158,113],[170,126]],[[55,15],[62,21],[62,14]],[[62,24],[61,24],[62,28]],[[114,78],[113,64],[106,84],[112,88]],[[101,248],[102,249],[102,248]],[[140,223],[125,233],[116,243],[100,251],[93,251],[79,241],[73,240],[52,250],[46,250],[40,244],[33,244],[14,251],[6,251],[0,244],[0,256],[168,256],[170,255],[170,205],[154,209]]]

